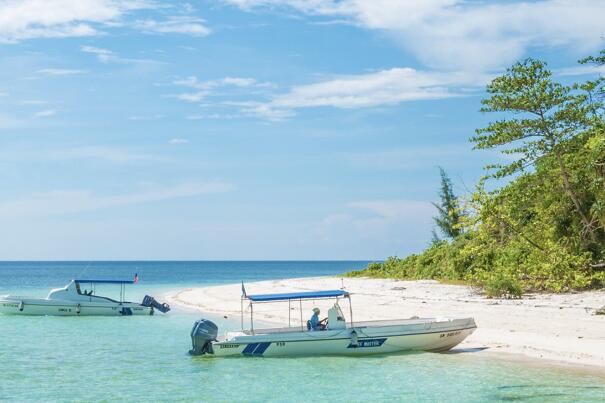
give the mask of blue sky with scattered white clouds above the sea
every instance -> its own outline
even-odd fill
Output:
[[[485,85],[563,82],[601,0],[0,0],[0,260],[384,259],[494,151]]]

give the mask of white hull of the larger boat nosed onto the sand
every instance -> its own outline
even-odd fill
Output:
[[[476,329],[472,318],[321,332],[238,336],[212,343],[215,356],[370,355],[447,351]],[[354,335],[352,331],[354,330]]]

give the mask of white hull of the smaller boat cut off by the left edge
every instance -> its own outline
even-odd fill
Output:
[[[98,303],[0,297],[0,314],[30,316],[153,315],[153,308],[135,303]]]

